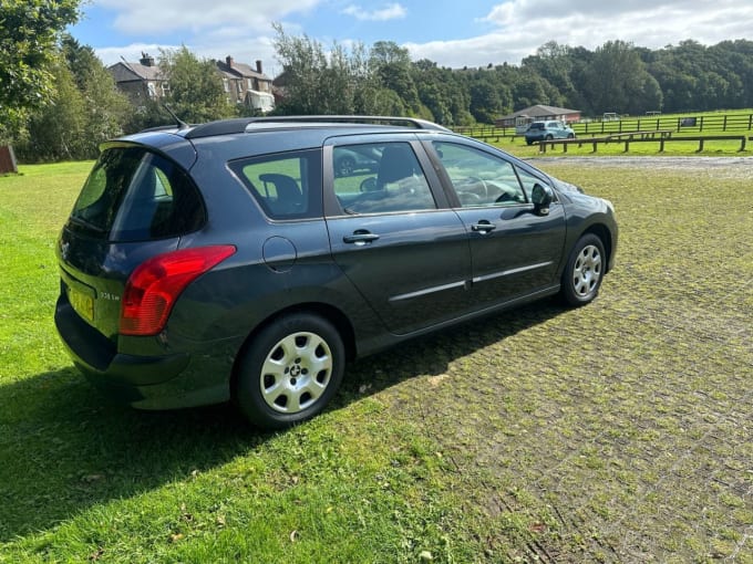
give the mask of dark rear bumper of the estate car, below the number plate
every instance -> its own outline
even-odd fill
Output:
[[[141,409],[174,409],[230,398],[230,374],[239,343],[212,343],[164,355],[122,354],[60,297],[55,326],[73,364],[113,399]]]

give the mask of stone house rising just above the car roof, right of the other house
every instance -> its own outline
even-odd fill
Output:
[[[256,67],[251,69],[228,55],[225,61],[216,61],[216,65],[223,77],[228,102],[244,104],[249,109],[264,113],[275,109],[272,80],[264,73],[261,61],[257,61]]]

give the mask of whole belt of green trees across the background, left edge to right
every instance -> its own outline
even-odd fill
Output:
[[[63,33],[76,6],[0,4],[0,142],[12,143],[21,160],[94,158],[107,138],[171,123],[165,104],[189,123],[248,115],[227,102],[214,62],[186,46],[159,53],[165,96],[133,106],[93,49]],[[452,127],[493,123],[535,104],[592,116],[753,107],[747,40],[658,50],[608,41],[594,51],[551,41],[519,65],[448,69],[413,61],[391,41],[326,48],[274,28],[283,69],[276,80],[280,115],[404,115]]]

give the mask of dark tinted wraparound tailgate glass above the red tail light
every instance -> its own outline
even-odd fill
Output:
[[[206,211],[196,186],[175,163],[141,147],[117,147],[97,160],[71,220],[127,242],[196,231]]]

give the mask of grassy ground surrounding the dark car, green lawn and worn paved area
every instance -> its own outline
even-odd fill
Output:
[[[0,562],[753,563],[753,171],[543,163],[617,207],[600,297],[363,359],[275,435],[103,400],[52,325],[91,164],[0,178]]]

